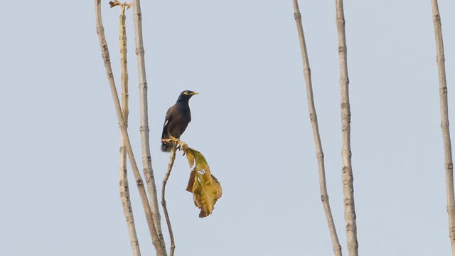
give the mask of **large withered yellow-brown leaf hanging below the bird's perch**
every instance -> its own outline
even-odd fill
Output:
[[[194,166],[186,190],[193,193],[194,203],[200,208],[199,217],[204,218],[212,213],[216,201],[221,197],[221,184],[210,174],[210,167],[203,154],[189,147],[185,153],[190,167]]]

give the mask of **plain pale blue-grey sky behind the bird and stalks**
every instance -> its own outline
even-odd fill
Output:
[[[118,86],[119,9],[107,2]],[[347,255],[335,1],[299,4],[328,194]],[[0,255],[131,255],[94,1],[4,7]],[[440,0],[439,9],[455,120],[455,2]],[[185,191],[190,169],[177,156],[166,189],[176,255],[333,255],[291,1],[142,1],[142,14],[158,186],[168,161],[159,150],[164,116],[182,90],[200,94],[181,139],[203,152],[223,186],[213,214],[198,218]],[[360,255],[450,255],[431,1],[346,1],[345,15]],[[129,10],[129,134],[141,159],[132,25]],[[154,255],[130,188],[142,255]]]

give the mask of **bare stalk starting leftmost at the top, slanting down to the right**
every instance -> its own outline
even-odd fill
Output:
[[[95,0],[95,14],[96,14],[96,23],[97,23],[97,34],[100,41],[100,47],[102,52],[102,58],[105,63],[107,80],[109,81],[109,87],[111,89],[112,98],[114,100],[115,111],[117,112],[117,119],[119,120],[120,131],[122,132],[122,137],[127,148],[127,154],[129,156],[129,162],[132,166],[134,177],[136,178],[137,188],[139,190],[139,195],[141,197],[141,203],[144,207],[144,213],[146,215],[147,225],[149,226],[149,231],[151,234],[152,241],[156,249],[157,256],[166,255],[166,248],[161,243],[161,240],[158,238],[156,233],[156,228],[154,225],[153,217],[151,215],[151,210],[149,206],[149,200],[146,195],[144,188],[144,182],[142,181],[141,174],[139,173],[139,168],[137,166],[136,159],[134,159],[133,149],[131,142],[129,141],[129,135],[127,131],[127,124],[122,114],[122,108],[120,107],[119,95],[117,95],[117,89],[115,87],[114,75],[112,73],[110,58],[109,58],[109,48],[107,47],[106,37],[105,37],[105,28],[102,26],[102,17],[101,17],[101,0]]]

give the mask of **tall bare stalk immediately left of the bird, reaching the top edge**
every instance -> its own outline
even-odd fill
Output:
[[[144,59],[144,42],[142,38],[142,14],[141,1],[133,0],[134,15],[134,35],[136,42],[137,70],[139,73],[139,112],[141,119],[141,149],[142,149],[142,166],[144,166],[144,176],[150,196],[151,212],[153,213],[156,233],[159,240],[166,247],[161,231],[161,216],[159,214],[158,196],[156,194],[156,183],[154,170],[151,166],[150,142],[149,142],[149,103],[147,99],[147,79]]]

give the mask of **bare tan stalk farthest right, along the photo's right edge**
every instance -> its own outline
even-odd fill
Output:
[[[441,16],[438,1],[432,0],[434,38],[436,41],[436,60],[439,70],[439,100],[441,102],[441,129],[444,140],[444,169],[446,170],[447,215],[449,218],[449,237],[452,255],[455,256],[455,196],[454,196],[454,162],[449,131],[449,108],[447,101],[446,66],[444,43],[442,41]]]

